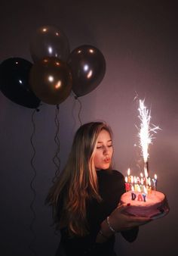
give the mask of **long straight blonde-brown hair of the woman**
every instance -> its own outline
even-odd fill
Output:
[[[52,205],[54,222],[60,228],[67,226],[71,235],[87,234],[86,200],[102,200],[98,192],[97,172],[93,161],[97,136],[101,130],[107,130],[112,136],[112,130],[103,122],[85,123],[79,127],[66,167],[51,187],[46,199],[46,202]],[[63,201],[60,214],[58,199]]]

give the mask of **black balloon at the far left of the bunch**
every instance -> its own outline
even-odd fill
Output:
[[[37,108],[40,100],[29,86],[32,63],[23,58],[8,58],[0,64],[0,90],[11,101],[26,108]]]

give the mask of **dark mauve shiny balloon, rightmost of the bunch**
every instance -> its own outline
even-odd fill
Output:
[[[72,70],[72,91],[82,96],[93,91],[106,72],[106,61],[99,49],[81,45],[69,55],[68,64]]]

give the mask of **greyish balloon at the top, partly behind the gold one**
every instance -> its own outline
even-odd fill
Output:
[[[66,61],[70,52],[66,35],[51,26],[43,26],[35,30],[29,48],[34,62],[45,57],[56,57]]]

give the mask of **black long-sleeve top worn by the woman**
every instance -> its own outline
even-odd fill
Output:
[[[115,236],[111,236],[106,242],[96,243],[100,224],[112,211],[117,208],[121,195],[125,192],[124,176],[117,170],[97,171],[101,202],[97,200],[87,201],[87,223],[90,233],[84,237],[69,238],[66,229],[61,229],[60,246],[57,256],[60,256],[60,249],[63,248],[66,256],[112,256],[114,254]],[[60,209],[59,209],[60,210]],[[137,238],[138,228],[122,232],[128,242]]]

